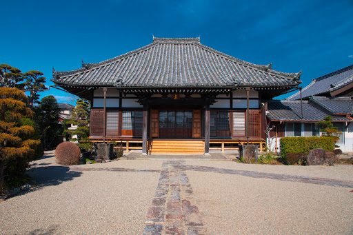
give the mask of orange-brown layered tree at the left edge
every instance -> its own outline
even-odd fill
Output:
[[[32,116],[26,107],[27,96],[16,88],[0,88],[0,187],[4,187],[3,172],[8,159],[30,159],[40,141],[29,139],[34,133],[21,119]]]

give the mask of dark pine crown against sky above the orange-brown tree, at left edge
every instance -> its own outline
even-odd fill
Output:
[[[5,63],[0,65],[1,88],[23,88],[23,85],[19,83],[20,81],[23,81],[21,70]]]

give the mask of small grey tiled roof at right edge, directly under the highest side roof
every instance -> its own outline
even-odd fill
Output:
[[[350,97],[326,98],[314,96],[310,102],[317,103],[332,114],[352,114],[353,100]]]

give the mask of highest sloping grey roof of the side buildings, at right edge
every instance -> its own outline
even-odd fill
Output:
[[[341,70],[331,72],[317,79],[312,79],[312,82],[301,90],[303,99],[310,96],[318,96],[319,94],[330,93],[333,90],[339,89],[353,81],[353,65],[350,65]],[[287,98],[288,100],[301,99],[300,92],[296,92]]]

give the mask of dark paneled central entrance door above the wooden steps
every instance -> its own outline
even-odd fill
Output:
[[[160,110],[159,137],[166,139],[192,138],[192,111]]]

